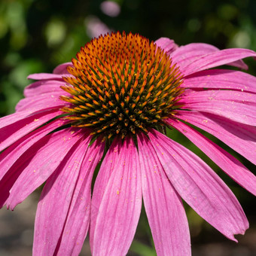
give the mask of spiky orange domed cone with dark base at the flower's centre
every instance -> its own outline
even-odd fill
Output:
[[[111,136],[148,133],[160,129],[164,119],[178,108],[181,73],[172,59],[141,35],[111,33],[81,47],[72,76],[60,99],[70,106],[72,126],[89,127],[91,135]]]

